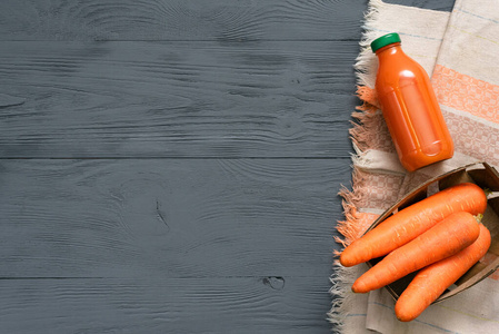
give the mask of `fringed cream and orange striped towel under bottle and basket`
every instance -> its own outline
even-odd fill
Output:
[[[369,2],[356,63],[363,104],[352,115],[358,120],[351,129],[352,186],[340,191],[345,219],[338,222],[339,243],[359,237],[380,213],[433,176],[481,160],[499,166],[498,9],[499,0],[457,0],[450,13]],[[373,91],[378,63],[369,45],[388,32],[398,32],[403,50],[430,75],[455,140],[452,159],[410,174],[398,161]],[[335,264],[329,320],[340,333],[499,333],[497,273],[401,323],[385,289],[367,295],[350,292],[366,269]]]

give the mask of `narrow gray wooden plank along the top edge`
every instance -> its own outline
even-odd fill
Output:
[[[2,0],[0,40],[358,40],[362,0]]]

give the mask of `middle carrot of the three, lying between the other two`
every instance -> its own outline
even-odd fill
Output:
[[[416,239],[385,256],[357,278],[352,291],[367,293],[380,288],[407,274],[449,257],[471,245],[479,233],[479,223],[471,214],[455,213]]]

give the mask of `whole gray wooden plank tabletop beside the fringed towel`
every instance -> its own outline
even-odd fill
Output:
[[[328,333],[366,9],[2,0],[0,333]]]

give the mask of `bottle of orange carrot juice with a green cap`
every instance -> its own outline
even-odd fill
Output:
[[[379,60],[378,101],[402,166],[413,171],[449,159],[453,144],[425,69],[409,58],[398,33],[371,43]]]

